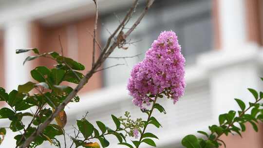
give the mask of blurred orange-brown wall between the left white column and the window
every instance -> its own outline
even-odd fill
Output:
[[[76,38],[77,38],[77,49],[71,49],[74,51],[68,51],[68,34],[67,30],[68,27],[74,26],[76,31]],[[58,37],[60,36],[62,46],[63,46],[63,53],[64,56],[72,57],[69,53],[77,52],[77,60],[78,62],[85,65],[86,70],[83,73],[86,73],[91,69],[92,65],[92,44],[93,38],[89,34],[88,30],[91,32],[93,31],[94,27],[94,18],[86,18],[66,24],[61,24],[58,26],[45,26],[41,25],[38,22],[34,22],[32,25],[32,46],[37,47],[41,53],[45,52],[52,52],[56,51],[61,54],[60,44]],[[98,33],[99,36],[99,33]],[[100,38],[100,37],[98,37]],[[99,50],[96,50],[96,56],[98,56]],[[35,66],[42,65],[52,67],[55,64],[54,61],[46,58],[39,58],[39,60],[35,61]],[[72,87],[74,87],[73,85]],[[87,92],[92,91],[102,87],[102,74],[96,73],[93,77],[89,80],[88,84],[84,86],[84,88],[80,91]]]

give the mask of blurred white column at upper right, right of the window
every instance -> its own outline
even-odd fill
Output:
[[[246,39],[244,0],[218,0],[222,48],[238,50]]]

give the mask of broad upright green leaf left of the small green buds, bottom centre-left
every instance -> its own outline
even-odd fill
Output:
[[[84,138],[90,137],[94,131],[94,126],[84,118],[77,120],[77,127],[83,134]]]

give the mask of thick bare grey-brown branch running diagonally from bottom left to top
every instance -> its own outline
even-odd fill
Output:
[[[124,24],[127,21],[127,19],[129,19],[129,17],[131,16],[131,13],[134,11],[134,9],[137,5],[137,2],[138,2],[138,0],[134,0],[133,4],[131,6],[131,9],[129,10],[129,12],[125,16],[125,18],[123,19],[122,24]],[[147,6],[145,7],[143,12],[141,13],[140,17],[134,22],[131,29],[128,30],[128,32],[126,32],[126,34],[124,35],[124,39],[126,37],[128,37],[131,34],[131,32],[136,28],[136,26],[140,23],[140,21],[143,19],[145,14],[148,12],[148,9],[150,8],[150,6],[152,5],[153,2],[154,2],[154,0],[148,0]],[[42,123],[41,125],[39,125],[37,130],[34,131],[31,134],[31,136],[29,136],[25,140],[25,142],[22,144],[22,146],[20,148],[27,148],[29,146],[29,144],[32,141],[34,141],[35,138],[56,118],[58,113],[65,108],[65,106],[72,100],[72,98],[77,94],[77,92],[79,92],[83,88],[83,86],[86,83],[88,83],[89,79],[93,76],[93,74],[97,71],[97,69],[102,65],[102,63],[106,60],[106,58],[109,57],[109,55],[111,55],[113,50],[118,46],[117,43],[111,44],[111,41],[112,41],[113,37],[120,31],[121,28],[122,28],[122,25],[119,25],[116,28],[116,30],[113,32],[113,34],[108,38],[105,47],[103,48],[100,56],[98,57],[98,59],[94,63],[94,66],[92,67],[92,69],[80,80],[79,84],[64,99],[64,101],[59,106],[57,106],[56,110],[47,118],[47,120],[44,123]]]

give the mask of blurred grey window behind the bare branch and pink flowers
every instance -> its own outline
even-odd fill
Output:
[[[123,18],[125,12],[127,9],[116,12],[116,14],[119,18]],[[132,19],[136,19],[139,12],[140,8]],[[117,17],[111,14],[104,16],[102,23],[101,37],[102,42],[105,43],[119,22]],[[143,59],[152,41],[163,30],[176,32],[187,65],[194,64],[199,54],[212,48],[211,0],[157,0],[139,27],[130,36],[135,39],[131,42],[141,41],[131,44],[129,50],[116,49],[111,56],[142,55],[125,60],[107,59],[104,64],[105,68],[115,64],[124,63],[125,65],[105,70],[104,86],[127,83],[133,65]]]

